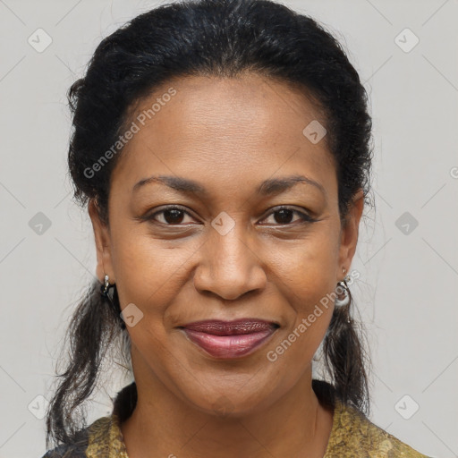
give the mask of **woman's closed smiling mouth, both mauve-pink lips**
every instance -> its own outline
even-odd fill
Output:
[[[255,352],[274,335],[279,325],[257,318],[235,321],[207,320],[180,327],[189,340],[210,356],[233,359]]]

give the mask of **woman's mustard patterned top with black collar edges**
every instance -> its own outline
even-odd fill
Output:
[[[377,427],[361,411],[331,398],[327,382],[313,380],[313,389],[320,402],[334,410],[323,458],[428,458]],[[110,416],[95,420],[77,433],[71,445],[59,445],[42,458],[129,458],[120,425],[130,416],[136,401],[133,382],[116,395]]]

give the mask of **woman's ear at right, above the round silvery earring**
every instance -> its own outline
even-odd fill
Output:
[[[352,259],[356,251],[358,233],[360,228],[360,217],[364,208],[364,192],[360,189],[354,195],[350,204],[345,223],[341,228],[341,241],[339,249],[339,275],[342,274],[342,267],[350,270]],[[337,278],[337,281],[341,278]]]

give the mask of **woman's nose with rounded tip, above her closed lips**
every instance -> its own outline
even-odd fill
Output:
[[[250,237],[238,227],[236,224],[225,235],[214,231],[202,245],[193,279],[199,293],[213,293],[233,301],[265,287],[267,276],[262,253],[256,252]]]

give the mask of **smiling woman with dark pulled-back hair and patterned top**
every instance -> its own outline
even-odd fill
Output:
[[[45,456],[425,456],[367,418],[349,285],[371,120],[335,38],[270,1],[169,4],[105,38],[69,100],[98,282]],[[134,381],[81,428],[118,346]]]

